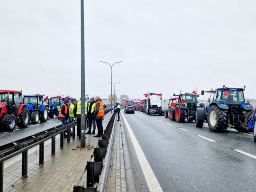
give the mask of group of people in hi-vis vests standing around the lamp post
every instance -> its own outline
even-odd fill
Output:
[[[71,123],[76,118],[77,136],[79,139],[81,138],[81,100],[77,101],[73,99],[71,104],[69,100],[64,100],[64,103],[59,109],[58,117],[62,124]],[[84,118],[85,121],[89,121],[89,130],[85,134],[95,134],[97,125],[98,134],[94,135],[94,137],[101,137],[103,134],[102,120],[104,118],[104,104],[99,96],[96,96],[95,99],[92,97],[89,103],[85,102]],[[92,125],[93,130],[91,132]]]

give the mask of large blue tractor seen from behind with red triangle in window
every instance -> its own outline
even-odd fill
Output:
[[[239,132],[248,132],[248,122],[253,116],[253,106],[245,102],[244,88],[231,88],[223,85],[211,93],[209,105],[206,106],[208,125],[211,131],[220,132],[228,126]],[[204,94],[204,91],[201,91]]]

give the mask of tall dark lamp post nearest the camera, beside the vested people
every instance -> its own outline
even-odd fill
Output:
[[[83,0],[81,0],[81,147],[85,147],[85,67],[84,67],[84,13]],[[74,133],[73,133],[74,134]]]

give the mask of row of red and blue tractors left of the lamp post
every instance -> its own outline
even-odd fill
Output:
[[[60,96],[50,99],[43,94],[22,97],[22,90],[0,90],[0,132],[13,131],[16,125],[26,128],[30,122],[38,124],[46,122],[48,117],[58,116],[58,106],[63,100]]]

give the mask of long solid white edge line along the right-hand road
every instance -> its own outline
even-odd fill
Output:
[[[128,121],[126,120],[126,118],[124,117],[123,113],[121,112],[121,116],[123,117],[124,123],[127,126],[128,129],[128,133],[131,137],[131,141],[133,143],[134,146],[134,150],[137,154],[138,157],[138,161],[139,164],[141,166],[142,172],[144,174],[145,180],[146,180],[146,184],[148,185],[148,189],[150,192],[163,192],[160,184],[158,183],[155,174],[152,170],[152,168],[150,167],[130,125],[128,124]]]

